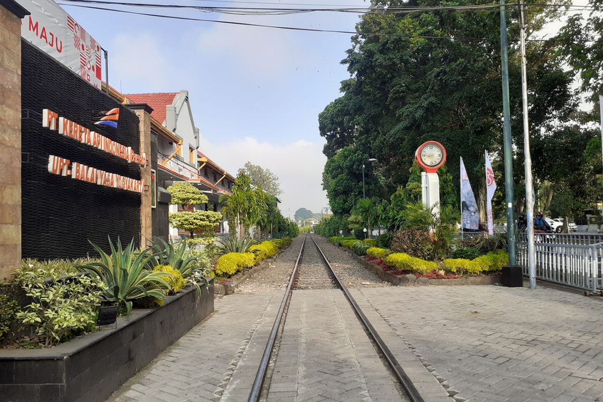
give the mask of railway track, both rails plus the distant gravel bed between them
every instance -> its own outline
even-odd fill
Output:
[[[329,260],[327,260],[323,251],[318,247],[318,244],[312,236],[308,235],[306,235],[301,244],[300,252],[291,271],[288,286],[286,287],[279,311],[277,312],[272,330],[268,336],[268,341],[257,369],[248,402],[258,402],[266,399],[268,388],[270,387],[270,377],[273,372],[273,365],[278,355],[279,336],[282,334],[285,326],[292,291],[302,291],[306,289],[341,290],[349,302],[350,307],[353,309],[356,318],[358,318],[358,321],[361,323],[362,327],[364,327],[365,332],[376,350],[376,354],[380,356],[384,365],[386,365],[390,371],[390,374],[395,378],[396,383],[403,389],[405,398],[411,402],[423,402],[423,398],[404,372],[402,366],[397,362],[396,357],[380,338],[370,321],[368,321],[341,279],[335,274]],[[402,398],[402,395],[400,395],[400,397]]]

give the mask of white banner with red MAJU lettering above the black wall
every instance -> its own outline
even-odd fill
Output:
[[[21,36],[100,89],[101,45],[54,1],[16,1],[31,13],[21,21]]]

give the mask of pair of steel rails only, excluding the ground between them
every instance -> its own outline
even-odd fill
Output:
[[[379,333],[375,330],[371,322],[362,312],[362,309],[356,303],[356,300],[352,297],[352,294],[347,290],[346,286],[344,286],[341,279],[333,270],[333,267],[330,265],[329,260],[324,255],[321,248],[318,246],[317,242],[314,240],[312,236],[310,239],[314,243],[315,247],[318,250],[318,253],[322,257],[324,264],[326,265],[330,277],[335,282],[336,286],[343,292],[350,306],[354,310],[356,317],[359,322],[361,322],[367,334],[370,336],[371,341],[379,350],[379,352],[384,357],[385,361],[388,363],[389,368],[396,377],[397,381],[400,383],[404,391],[406,392],[406,396],[411,400],[411,402],[424,402],[423,397],[417,391],[414,384],[411,382],[410,378],[404,372],[404,369],[400,365],[400,363],[396,360],[396,357],[393,353],[391,353],[390,349],[387,347],[383,339],[379,336]],[[268,336],[268,341],[266,343],[266,347],[264,348],[264,354],[262,354],[262,359],[260,360],[259,367],[257,369],[256,377],[253,382],[253,386],[251,388],[251,392],[248,398],[248,402],[258,402],[260,400],[260,396],[262,395],[262,389],[267,377],[268,366],[270,364],[270,358],[273,356],[274,347],[277,341],[277,335],[279,333],[279,328],[284,325],[286,320],[286,307],[288,306],[289,301],[291,300],[292,291],[295,289],[297,284],[298,274],[300,272],[300,262],[302,260],[302,255],[306,247],[306,240],[308,240],[308,235],[303,239],[301,243],[300,252],[297,256],[297,260],[295,260],[295,265],[291,271],[291,276],[289,277],[289,282],[285,290],[285,294],[283,295],[283,299],[280,303],[279,311],[277,312],[276,319],[274,319],[274,324],[272,330],[270,331],[270,336]]]

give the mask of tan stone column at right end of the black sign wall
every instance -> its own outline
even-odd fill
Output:
[[[148,186],[148,191],[140,195],[140,247],[144,248],[153,240],[153,219],[151,218],[151,108],[147,104],[126,104],[140,119],[140,154],[147,155],[148,165],[140,168],[140,179]]]

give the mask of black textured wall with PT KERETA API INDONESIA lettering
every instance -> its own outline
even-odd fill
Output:
[[[83,257],[108,235],[138,243],[136,114],[25,40],[21,69],[23,257]]]

